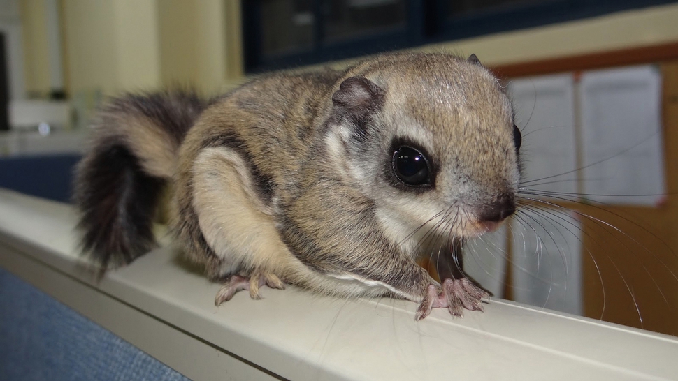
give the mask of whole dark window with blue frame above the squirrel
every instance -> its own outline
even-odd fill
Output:
[[[261,72],[677,0],[241,0],[245,70]]]

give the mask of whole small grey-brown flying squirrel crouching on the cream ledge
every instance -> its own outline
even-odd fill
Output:
[[[482,310],[489,297],[463,274],[439,271],[440,285],[416,262],[451,256],[515,210],[520,132],[475,55],[385,54],[209,101],[122,96],[94,127],[75,201],[102,271],[154,246],[171,184],[173,234],[224,283],[217,305],[291,283],[416,301],[419,320],[431,308]]]

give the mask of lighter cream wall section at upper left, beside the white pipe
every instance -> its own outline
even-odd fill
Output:
[[[68,89],[159,87],[156,0],[64,0]]]

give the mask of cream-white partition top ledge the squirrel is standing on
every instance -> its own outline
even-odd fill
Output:
[[[678,375],[678,338],[493,299],[463,319],[296,287],[236,294],[159,248],[101,283],[66,204],[0,190],[0,266],[194,380],[639,380]]]

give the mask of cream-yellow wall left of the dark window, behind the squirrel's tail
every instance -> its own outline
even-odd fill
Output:
[[[50,87],[44,0],[20,0],[29,91]],[[221,91],[242,77],[238,0],[59,0],[69,94]]]

